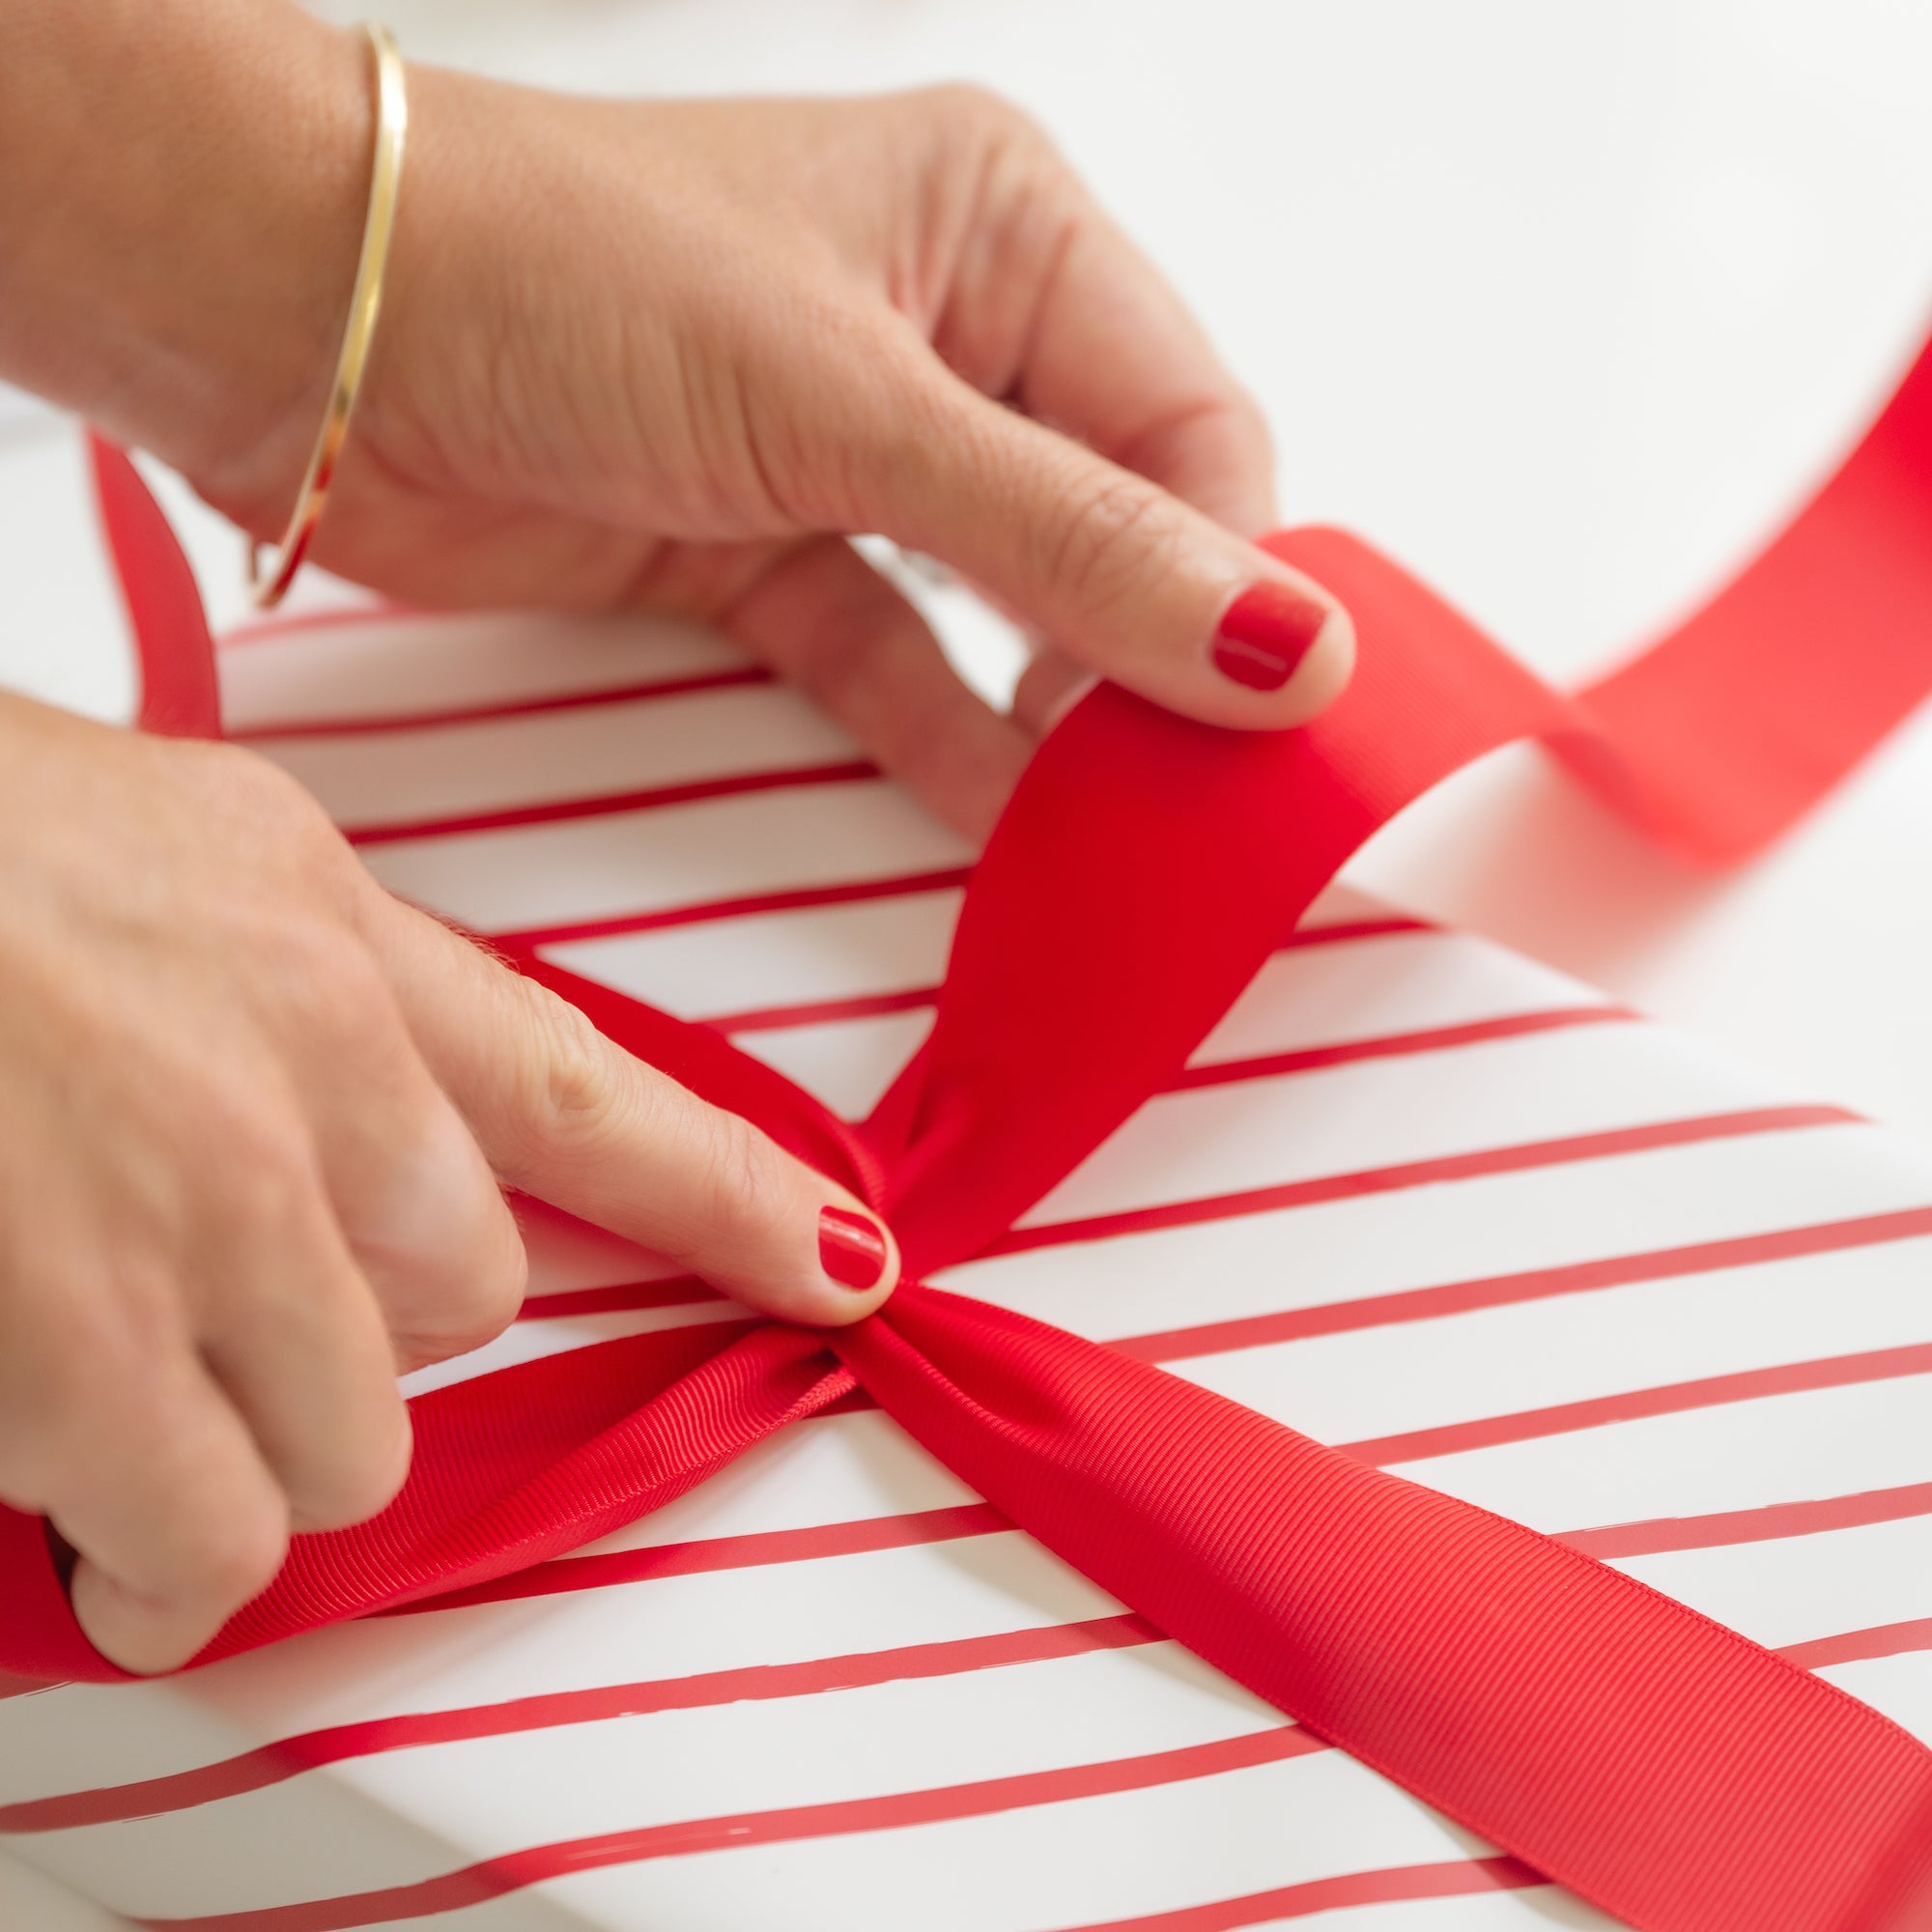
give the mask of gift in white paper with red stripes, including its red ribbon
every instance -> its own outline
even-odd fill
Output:
[[[1932,1153],[1480,939],[1302,912],[1524,728],[1685,846],[1776,829],[1928,680],[1907,543],[1851,591],[1862,696],[1764,701],[1872,446],[1694,628],[1706,670],[1748,636],[1748,699],[1650,659],[1565,707],[1302,535],[1364,632],[1333,723],[1101,692],[978,866],[709,634],[232,641],[228,734],[379,879],[842,1163],[925,1285],[831,1356],[526,1204],[522,1318],[412,1378],[419,1441],[539,1497],[618,1441],[622,1497],[307,1538],[201,1667],[21,1685],[12,1847],[182,1932],[1611,1922],[1557,1878],[1665,1932],[1932,1922]],[[151,721],[205,726],[170,663]],[[1660,703],[1779,724],[1687,761]],[[711,1389],[676,1480],[632,1466],[668,1424],[545,1449],[597,1362],[655,1414]],[[14,1611],[68,1642],[19,1524]]]

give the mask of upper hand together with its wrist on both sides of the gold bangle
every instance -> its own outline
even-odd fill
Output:
[[[272,539],[354,280],[367,50],[286,0],[12,6],[0,371]],[[983,833],[1095,672],[1231,726],[1337,694],[1347,616],[1246,541],[1271,477],[1173,290],[989,95],[614,102],[413,68],[315,554],[425,603],[719,622]],[[1039,641],[1016,719],[852,531]]]

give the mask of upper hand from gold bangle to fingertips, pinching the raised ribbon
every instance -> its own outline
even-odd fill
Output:
[[[413,87],[325,562],[429,603],[709,618],[970,833],[1094,672],[1235,726],[1341,688],[1347,618],[1244,541],[1273,522],[1254,404],[1014,108]],[[315,413],[311,383],[211,495],[269,529]],[[1047,645],[1018,721],[846,531]]]

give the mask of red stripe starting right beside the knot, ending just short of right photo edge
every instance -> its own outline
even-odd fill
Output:
[[[1287,1180],[1271,1188],[1240,1194],[1211,1194],[1188,1202],[1161,1202],[1155,1208],[1122,1208],[1115,1213],[1086,1215],[1078,1221],[1047,1221],[1016,1227],[987,1242],[981,1256],[1024,1254],[1057,1248],[1074,1240],[1105,1240],[1111,1235],[1140,1235],[1161,1227],[1192,1227],[1198,1221],[1233,1221],[1236,1215],[1273,1213],[1281,1208],[1312,1208],[1320,1202],[1352,1200],[1362,1194],[1393,1194],[1399,1188],[1432,1186],[1441,1180],[1474,1180],[1480,1175],[1513,1175],[1532,1167],[1561,1167],[1569,1161],[1598,1161],[1617,1153],[1644,1153],[1652,1148],[1689,1148],[1704,1140],[1733,1140],[1745,1134],[1783,1134],[1801,1126],[1861,1126],[1847,1107],[1748,1107],[1739,1113],[1710,1113],[1689,1121],[1660,1121],[1650,1126],[1619,1126],[1598,1134],[1569,1134],[1561,1140],[1532,1140],[1513,1148],[1480,1148],[1474,1153],[1445,1153],[1428,1161],[1395,1167],[1368,1167],[1352,1175],[1321,1175],[1316,1180]],[[976,1256],[978,1260],[978,1256]]]

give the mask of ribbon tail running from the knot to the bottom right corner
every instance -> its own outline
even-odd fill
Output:
[[[1644,1932],[1932,1926],[1932,1750],[1623,1573],[935,1289],[833,1347],[1016,1524]]]

